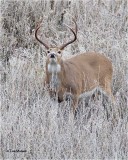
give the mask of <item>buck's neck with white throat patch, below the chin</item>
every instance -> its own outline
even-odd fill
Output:
[[[57,91],[62,83],[62,65],[62,60],[60,63],[50,62],[47,64],[48,82],[50,89],[54,91]]]

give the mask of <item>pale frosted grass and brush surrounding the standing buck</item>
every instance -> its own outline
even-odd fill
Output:
[[[128,159],[127,0],[2,0],[0,6],[0,159]],[[41,37],[62,44],[71,36],[64,25],[73,26],[71,15],[78,40],[64,57],[85,51],[109,57],[116,99],[112,105],[102,94],[85,95],[76,119],[68,102],[51,101],[43,88],[45,48],[34,37],[43,18]]]

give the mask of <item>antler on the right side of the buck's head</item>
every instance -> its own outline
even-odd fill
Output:
[[[59,47],[60,50],[63,50],[67,45],[73,43],[76,39],[77,39],[77,24],[76,24],[76,21],[75,19],[73,18],[73,22],[75,23],[75,31],[70,28],[69,26],[67,26],[71,31],[72,33],[74,34],[74,38],[72,40],[70,40],[69,42],[67,42],[66,44],[63,44],[62,46]]]

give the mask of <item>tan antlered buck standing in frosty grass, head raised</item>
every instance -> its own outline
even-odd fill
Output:
[[[35,38],[47,49],[45,83],[49,86],[51,97],[57,96],[58,102],[65,100],[65,94],[71,93],[73,112],[78,107],[78,100],[82,93],[102,88],[113,99],[112,63],[111,61],[95,52],[81,53],[72,58],[63,60],[63,49],[77,39],[77,24],[75,28],[67,26],[73,34],[73,38],[59,46],[50,47],[38,37],[41,22],[35,29]]]

